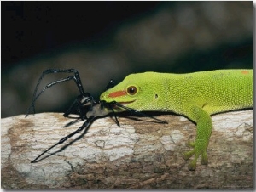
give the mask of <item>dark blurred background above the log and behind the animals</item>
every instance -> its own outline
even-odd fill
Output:
[[[135,72],[253,68],[253,2],[1,2],[2,118],[26,114],[49,68],[77,69],[96,99]],[[37,112],[78,94],[74,82],[49,88]]]

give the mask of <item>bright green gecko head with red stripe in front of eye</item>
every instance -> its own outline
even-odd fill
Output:
[[[145,107],[155,99],[155,94],[152,93],[153,73],[145,72],[126,76],[118,85],[102,93],[100,99],[107,103],[116,101],[136,110],[145,110]]]

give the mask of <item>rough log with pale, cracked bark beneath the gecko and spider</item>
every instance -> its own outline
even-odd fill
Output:
[[[183,116],[157,117],[169,124],[119,116],[118,127],[110,117],[97,119],[83,137],[73,136],[37,163],[30,161],[82,122],[64,127],[72,120],[57,113],[4,118],[2,188],[253,188],[253,110],[212,116],[209,163],[198,161],[194,172],[182,155],[189,150],[185,144],[195,138],[195,124]]]

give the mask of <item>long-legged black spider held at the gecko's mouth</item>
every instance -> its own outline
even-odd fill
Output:
[[[59,80],[56,80],[55,82],[50,82],[49,84],[47,84],[38,94],[38,86],[41,83],[42,79],[44,78],[45,75],[50,74],[50,73],[73,73],[72,76],[67,76],[66,78],[61,78]],[[143,114],[142,112],[139,112],[135,109],[131,109],[129,107],[126,107],[122,104],[119,104],[116,101],[107,103],[104,100],[95,100],[90,93],[84,93],[84,88],[79,76],[79,71],[75,70],[75,69],[67,69],[67,70],[63,70],[63,69],[48,69],[43,71],[42,75],[40,76],[37,86],[35,88],[35,91],[33,93],[33,97],[32,97],[32,104],[30,105],[30,107],[27,110],[26,116],[28,116],[28,114],[32,111],[32,113],[35,113],[35,102],[38,99],[38,97],[44,93],[44,91],[47,88],[50,88],[52,86],[54,86],[55,84],[61,83],[61,82],[67,82],[70,80],[74,80],[74,82],[76,83],[77,87],[79,88],[79,96],[73,101],[73,104],[71,104],[71,106],[68,108],[68,110],[64,113],[63,116],[65,117],[69,117],[69,118],[75,118],[75,121],[84,121],[84,124],[79,127],[76,131],[74,131],[73,133],[68,134],[66,137],[61,138],[61,140],[52,145],[51,147],[49,147],[49,149],[44,150],[43,153],[41,153],[40,155],[38,155],[37,158],[35,158],[34,160],[31,161],[31,163],[34,162],[38,162],[38,158],[42,155],[44,155],[46,152],[48,152],[49,150],[51,150],[52,148],[54,148],[56,145],[62,144],[63,142],[65,142],[68,138],[73,137],[74,134],[81,132],[82,130],[84,130],[84,132],[87,131],[87,129],[90,127],[90,124],[96,119],[96,117],[98,116],[106,116],[109,113],[113,113],[114,118],[116,120],[117,125],[119,126],[119,121],[114,113],[113,108],[114,107],[119,107],[122,108],[124,110],[128,110],[131,113],[140,115],[140,116],[147,116],[145,114]],[[108,90],[109,88],[113,88],[115,85],[113,80],[110,80],[110,82],[108,82],[107,87],[105,88],[105,91]],[[73,113],[77,113],[79,114],[79,117],[73,117],[73,116],[69,116],[70,114]],[[148,116],[154,120],[159,121],[160,123],[166,123],[166,121],[161,121],[159,119],[154,118],[153,116]],[[73,122],[75,122],[73,121]],[[68,125],[72,124],[73,122],[69,123]]]

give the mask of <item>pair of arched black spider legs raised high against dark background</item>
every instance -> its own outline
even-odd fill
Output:
[[[61,78],[60,80],[57,80],[55,82],[50,82],[49,84],[47,84],[44,89],[38,93],[37,95],[37,92],[38,92],[38,86],[40,85],[41,81],[43,80],[44,76],[47,75],[47,74],[50,74],[50,73],[73,73],[74,75],[73,76],[67,76],[66,78]],[[82,82],[81,82],[81,79],[80,79],[80,76],[79,76],[79,71],[75,70],[75,69],[67,69],[67,70],[61,70],[61,69],[48,69],[48,70],[45,70],[43,71],[42,75],[39,77],[38,79],[38,83],[37,83],[37,86],[35,88],[35,91],[33,93],[33,96],[32,96],[32,104],[30,105],[30,107],[28,108],[27,110],[27,113],[26,113],[26,116],[28,116],[29,112],[32,110],[32,113],[35,113],[35,102],[36,100],[38,99],[38,97],[44,93],[44,91],[47,89],[47,88],[50,88],[52,87],[53,85],[57,84],[57,83],[61,83],[61,82],[67,82],[67,81],[70,81],[70,80],[74,80],[74,82],[76,82],[76,85],[77,87],[79,88],[79,93],[80,95],[84,95],[84,88],[83,88],[83,85],[82,85]]]

